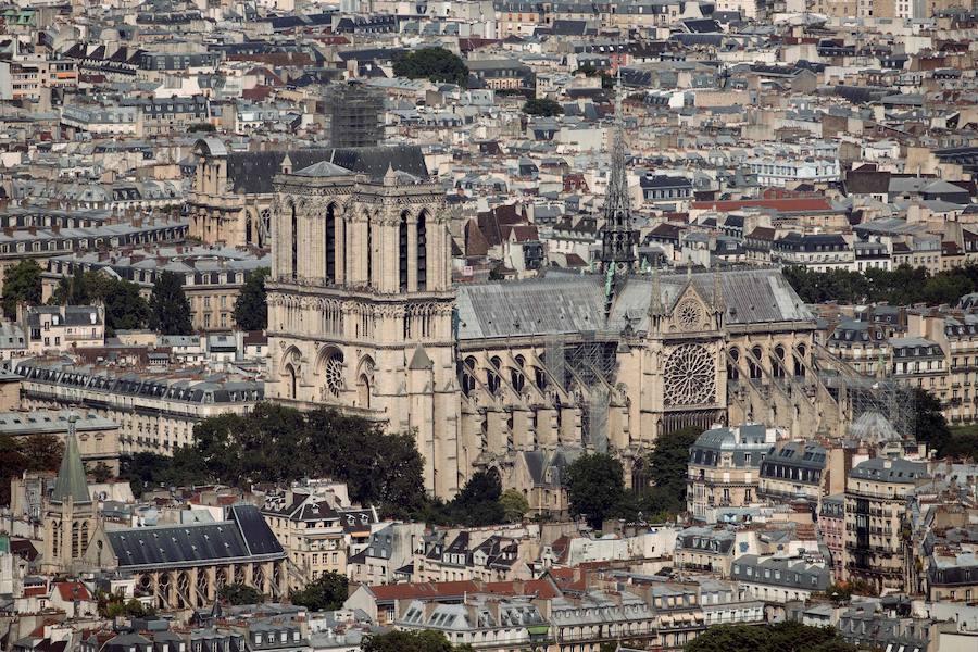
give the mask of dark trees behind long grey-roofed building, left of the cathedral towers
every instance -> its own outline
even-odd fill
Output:
[[[16,317],[17,303],[41,303],[41,268],[33,260],[8,267],[3,273],[4,315]],[[268,323],[265,279],[268,269],[260,267],[248,275],[235,301],[235,323],[242,330],[262,330]],[[90,305],[102,302],[105,306],[105,329],[111,337],[117,330],[152,328],[164,335],[190,335],[193,322],[190,301],[184,292],[180,276],[163,272],[153,284],[149,301],[135,283],[116,278],[104,271],[78,271],[62,278],[51,294],[51,305]]]

